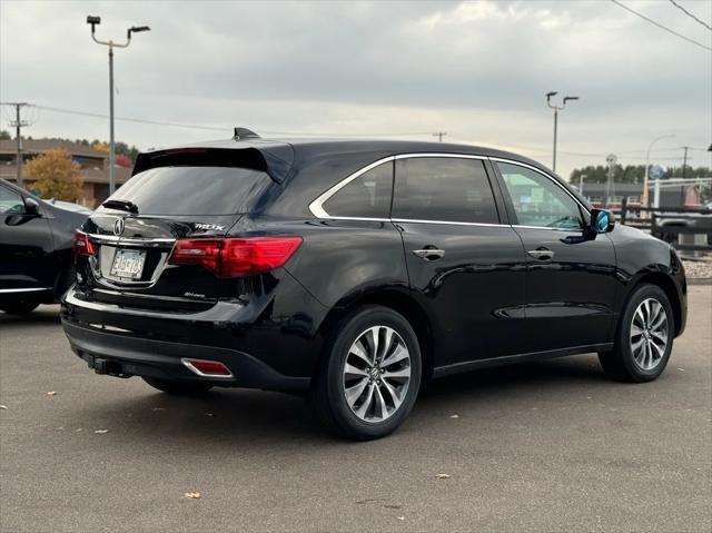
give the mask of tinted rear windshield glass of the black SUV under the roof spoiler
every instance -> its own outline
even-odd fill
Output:
[[[132,201],[141,215],[235,215],[253,210],[271,184],[246,168],[158,167],[134,176],[111,199]]]

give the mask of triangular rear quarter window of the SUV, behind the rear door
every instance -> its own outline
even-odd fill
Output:
[[[362,174],[324,203],[333,217],[388,218],[393,190],[393,161]]]

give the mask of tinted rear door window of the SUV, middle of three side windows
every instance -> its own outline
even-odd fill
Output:
[[[396,161],[393,217],[497,224],[497,208],[479,159],[413,157]]]

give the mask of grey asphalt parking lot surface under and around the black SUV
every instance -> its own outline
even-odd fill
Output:
[[[456,376],[363,444],[297,397],[95,376],[57,306],[0,315],[0,530],[709,532],[712,286],[690,292],[655,383],[593,355]]]

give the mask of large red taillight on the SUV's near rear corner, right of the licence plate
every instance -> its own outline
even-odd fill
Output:
[[[176,240],[168,263],[200,265],[218,277],[261,274],[291,257],[301,237],[248,237]]]

